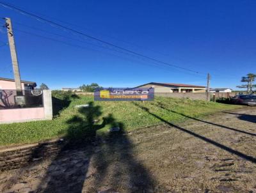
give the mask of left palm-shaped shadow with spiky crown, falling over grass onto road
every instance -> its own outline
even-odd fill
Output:
[[[36,192],[81,192],[83,189],[93,154],[92,142],[95,141],[97,130],[104,127],[106,121],[95,124],[95,119],[99,118],[102,112],[100,106],[93,105],[93,102],[78,111],[79,115],[67,121],[67,142],[51,161]]]

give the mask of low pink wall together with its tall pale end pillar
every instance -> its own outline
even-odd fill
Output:
[[[43,91],[44,107],[1,109],[0,123],[16,123],[24,121],[51,120],[52,96],[51,90]]]

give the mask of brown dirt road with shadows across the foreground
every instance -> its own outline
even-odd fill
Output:
[[[109,134],[0,174],[0,192],[256,192],[256,107]],[[184,115],[185,116],[185,115]]]

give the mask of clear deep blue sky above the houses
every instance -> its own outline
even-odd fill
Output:
[[[236,89],[242,76],[256,73],[254,0],[4,2],[169,64],[0,6],[0,17],[12,19],[21,79],[38,85],[44,82],[51,89],[92,82],[104,87],[147,82],[206,86],[207,73],[211,74],[211,88]],[[13,78],[7,42],[6,29],[1,27],[0,77]]]

